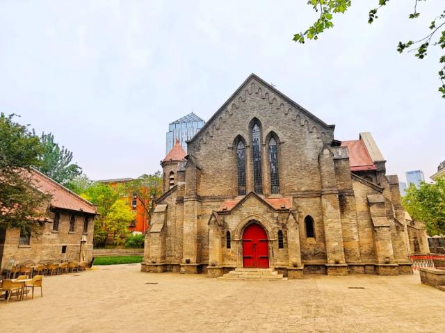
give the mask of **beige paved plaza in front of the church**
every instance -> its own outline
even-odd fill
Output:
[[[2,332],[445,332],[445,292],[419,275],[232,281],[100,266],[0,301]]]

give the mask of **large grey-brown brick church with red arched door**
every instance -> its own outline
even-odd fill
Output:
[[[142,270],[411,274],[397,176],[371,133],[334,127],[251,74],[161,162]]]

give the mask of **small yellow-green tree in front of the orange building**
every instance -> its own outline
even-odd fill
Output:
[[[113,238],[115,245],[124,243],[129,235],[128,226],[134,217],[126,200],[117,200],[111,205],[107,216],[104,218],[105,229]]]

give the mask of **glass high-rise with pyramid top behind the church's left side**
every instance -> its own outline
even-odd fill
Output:
[[[168,124],[167,140],[165,145],[165,155],[172,150],[176,139],[179,139],[182,148],[187,152],[187,140],[191,140],[193,136],[204,126],[204,120],[195,115],[188,113],[184,117]]]

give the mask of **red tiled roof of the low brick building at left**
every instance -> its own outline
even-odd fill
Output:
[[[51,206],[60,209],[69,209],[70,211],[83,211],[83,213],[97,214],[97,207],[83,199],[76,193],[58,184],[53,179],[42,174],[38,170],[31,170],[31,179],[33,186],[42,193],[52,195]]]

